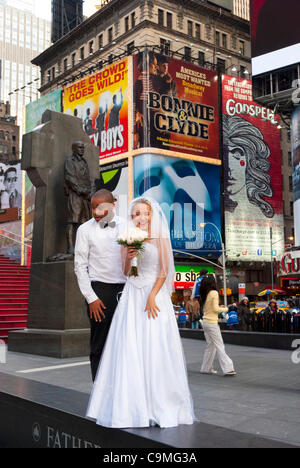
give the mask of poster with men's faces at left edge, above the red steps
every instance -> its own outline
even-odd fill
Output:
[[[9,163],[0,159],[0,223],[17,221],[21,208],[21,163]]]

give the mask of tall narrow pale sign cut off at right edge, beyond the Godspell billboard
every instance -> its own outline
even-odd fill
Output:
[[[294,187],[295,245],[300,245],[300,106],[292,116],[292,157]]]

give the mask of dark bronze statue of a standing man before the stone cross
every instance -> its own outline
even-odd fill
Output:
[[[91,219],[92,184],[87,161],[84,159],[84,143],[72,145],[73,154],[65,161],[65,194],[67,208],[67,253],[74,254],[74,237],[77,228]]]

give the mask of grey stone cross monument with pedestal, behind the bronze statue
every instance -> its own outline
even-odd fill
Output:
[[[99,150],[80,119],[46,111],[42,125],[23,137],[22,169],[36,187],[28,329],[9,334],[9,351],[56,358],[89,354],[89,320],[74,262],[47,263],[67,249],[64,162],[75,141],[85,143],[84,157],[97,179]]]

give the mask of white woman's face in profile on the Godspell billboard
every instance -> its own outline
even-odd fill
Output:
[[[244,151],[239,147],[228,147],[227,191],[230,195],[238,194],[246,185],[247,161]]]

